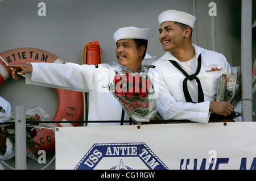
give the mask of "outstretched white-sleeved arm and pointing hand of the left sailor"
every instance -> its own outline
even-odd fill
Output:
[[[94,74],[96,69],[94,65],[31,62],[9,67],[14,68],[12,71],[14,79],[18,79],[19,74],[26,74],[26,84],[28,85],[82,92],[88,92],[96,86],[97,76]]]

